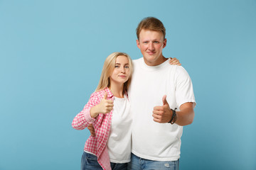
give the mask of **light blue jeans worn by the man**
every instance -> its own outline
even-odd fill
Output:
[[[128,163],[129,170],[178,170],[177,161],[159,162],[151,161],[149,159],[143,159],[137,157],[135,154],[131,156],[131,162]]]

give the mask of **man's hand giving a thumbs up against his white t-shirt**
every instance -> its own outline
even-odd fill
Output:
[[[154,107],[153,120],[157,123],[168,123],[171,120],[172,111],[166,101],[166,95],[163,96],[162,101],[163,106]]]

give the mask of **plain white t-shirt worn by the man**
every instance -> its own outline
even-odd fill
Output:
[[[154,67],[146,65],[143,58],[134,60],[133,64],[129,89],[132,153],[144,159],[175,161],[180,157],[183,128],[175,123],[154,122],[153,108],[163,106],[164,95],[172,109],[195,102],[191,79],[183,67],[170,65],[169,60]]]

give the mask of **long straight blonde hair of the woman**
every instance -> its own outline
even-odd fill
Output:
[[[109,55],[104,64],[103,64],[103,68],[102,68],[102,74],[100,76],[100,81],[99,84],[96,88],[95,91],[100,91],[102,89],[105,89],[106,87],[110,87],[110,76],[114,70],[114,66],[115,66],[115,62],[117,60],[117,57],[123,55],[125,57],[128,58],[129,60],[129,79],[124,83],[124,87],[123,87],[123,94],[128,90],[129,85],[131,84],[132,81],[132,72],[133,72],[133,68],[132,68],[132,60],[131,57],[129,57],[129,55],[127,55],[124,52],[113,52],[111,55]]]

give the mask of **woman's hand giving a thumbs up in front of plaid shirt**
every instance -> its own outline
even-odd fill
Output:
[[[107,100],[106,92],[100,103],[90,109],[90,115],[92,118],[96,118],[100,113],[110,113],[110,111],[113,109],[113,106],[113,101]]]

